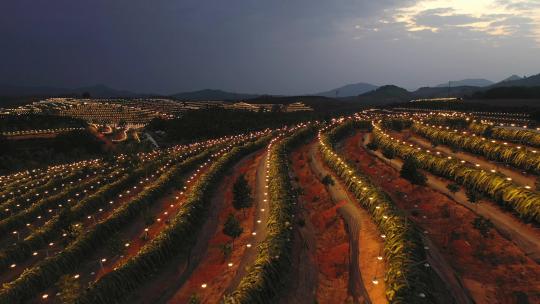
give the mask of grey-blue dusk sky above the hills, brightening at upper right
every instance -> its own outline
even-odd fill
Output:
[[[540,0],[3,0],[0,84],[170,94],[540,73]]]

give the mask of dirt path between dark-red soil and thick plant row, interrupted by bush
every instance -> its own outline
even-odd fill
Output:
[[[364,140],[359,141],[360,145],[365,145],[371,141],[371,134],[364,135]],[[400,159],[386,159],[380,152],[374,152],[369,149],[367,151],[377,156],[379,159],[392,166],[396,170],[401,169],[403,162]],[[529,256],[537,263],[540,263],[540,232],[537,228],[524,224],[515,218],[512,214],[504,212],[496,206],[495,203],[486,204],[483,201],[475,204],[469,203],[465,190],[461,189],[459,192],[453,194],[447,188],[447,180],[434,176],[426,172],[427,185],[431,188],[449,196],[460,205],[472,210],[478,215],[481,215],[489,219],[495,228],[505,238],[515,243],[525,255]]]

